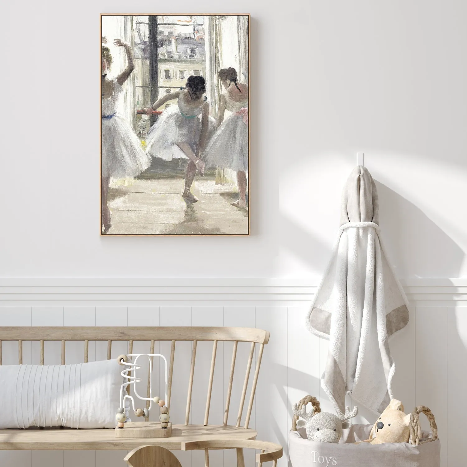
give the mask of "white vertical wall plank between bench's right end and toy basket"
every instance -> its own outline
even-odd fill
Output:
[[[287,400],[287,308],[257,306],[256,327],[270,333],[264,348],[260,377],[256,387],[256,430],[258,439],[278,442],[284,455],[277,463],[287,465],[288,400]]]

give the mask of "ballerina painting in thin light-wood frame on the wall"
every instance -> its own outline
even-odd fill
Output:
[[[249,15],[100,19],[100,234],[249,235]]]

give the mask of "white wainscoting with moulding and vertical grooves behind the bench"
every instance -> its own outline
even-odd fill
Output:
[[[2,280],[4,281],[4,280]],[[142,281],[144,282],[144,281]],[[173,283],[173,282],[172,282]],[[416,405],[426,405],[433,410],[442,443],[442,467],[463,465],[464,399],[467,393],[467,305],[465,282],[432,280],[425,282],[405,281],[409,292],[410,322],[390,340],[390,347],[396,361],[394,395],[403,401],[406,411]],[[82,290],[71,290],[71,283],[58,284],[57,290],[45,290],[50,286],[29,284],[21,298],[20,285],[0,282],[0,325],[65,325],[65,326],[248,326],[267,329],[271,333],[262,360],[254,410],[250,426],[258,431],[258,439],[276,441],[284,447],[284,457],[279,467],[287,465],[287,435],[290,430],[291,405],[307,395],[316,395],[323,410],[332,410],[319,385],[319,378],[325,368],[328,343],[308,333],[304,319],[310,305],[310,297],[315,286],[277,283],[266,284],[262,290],[258,284],[235,286],[227,283],[205,285],[207,296],[191,297],[188,304],[186,294],[167,295],[159,303],[155,299],[133,300],[133,291],[123,290],[113,295],[112,281],[98,284],[98,296],[92,304],[91,285],[78,284]],[[145,285],[144,283],[142,284]],[[30,287],[35,289],[31,290]],[[112,290],[102,290],[108,286]],[[147,287],[152,287],[146,284]],[[170,288],[169,283],[162,284]],[[45,287],[45,289],[44,289]],[[122,286],[123,287],[123,286]],[[133,287],[133,286],[132,286]],[[135,287],[135,286],[134,286]],[[238,295],[233,290],[238,287]],[[287,289],[285,292],[283,287]],[[123,287],[125,288],[125,287]],[[261,287],[260,287],[261,288]],[[266,290],[269,288],[269,291]],[[67,289],[67,290],[64,290]],[[282,289],[282,290],[278,290]],[[16,292],[15,292],[16,290]],[[96,291],[95,290],[95,291]],[[23,290],[24,291],[24,290]],[[13,293],[14,292],[14,293]],[[83,300],[80,302],[80,294]],[[120,293],[124,293],[120,296]],[[130,293],[131,292],[131,293]],[[3,295],[2,295],[3,293]],[[13,293],[13,295],[12,295]],[[104,294],[100,296],[99,294]],[[171,292],[170,292],[171,293]],[[47,295],[47,300],[36,300]],[[58,295],[54,295],[58,294]],[[71,294],[71,295],[69,295]],[[268,295],[269,294],[269,295]],[[276,295],[277,294],[277,295]],[[34,297],[35,298],[34,298]],[[306,296],[306,300],[304,300]],[[14,298],[15,297],[15,298]],[[177,298],[178,297],[178,298]],[[207,297],[207,298],[206,298]],[[299,297],[299,299],[297,299]],[[12,298],[14,298],[12,300]],[[235,298],[238,298],[236,300]],[[222,305],[225,301],[225,305]],[[131,302],[131,303],[130,303]],[[2,306],[3,305],[3,306]],[[174,306],[177,305],[177,306]],[[150,342],[134,344],[134,353],[149,352]],[[214,385],[210,405],[209,422],[222,423],[226,386],[230,373],[233,345],[219,343],[216,351]],[[106,358],[106,343],[89,345],[89,361]],[[112,357],[127,353],[124,343],[113,343]],[[182,368],[176,373],[173,382],[170,415],[174,423],[184,423],[188,379],[190,373],[192,345],[178,342],[176,365]],[[170,355],[170,343],[156,343],[155,353]],[[249,345],[239,344],[237,366],[234,374],[234,391],[230,405],[228,423],[235,425],[238,416],[239,397],[247,366]],[[66,362],[82,361],[84,343],[67,343]],[[257,356],[257,355],[256,355]],[[17,345],[3,343],[3,363],[16,364]],[[203,423],[206,407],[207,375],[212,359],[212,343],[199,342],[196,355],[198,380],[193,383],[191,423]],[[25,342],[23,351],[25,363],[38,362],[38,343]],[[46,343],[45,363],[60,362],[60,343]],[[155,388],[163,389],[163,365],[155,361],[153,375]],[[252,375],[255,364],[252,367]],[[203,375],[203,377],[199,377]],[[252,382],[250,376],[250,387]],[[142,382],[145,388],[147,382]],[[235,390],[236,389],[236,390]],[[248,394],[248,393],[247,393]],[[353,401],[348,400],[348,403]],[[246,401],[248,405],[248,400]],[[241,423],[245,423],[246,408]],[[151,418],[158,415],[153,413]],[[423,419],[423,416],[421,416]],[[373,423],[375,414],[360,408],[356,422]],[[423,422],[425,423],[425,422]],[[204,466],[201,452],[175,452],[184,467]],[[245,453],[246,464],[254,465],[254,453]],[[90,452],[0,452],[2,467],[115,467],[124,466],[126,451]],[[234,451],[212,451],[211,465],[234,467]]]

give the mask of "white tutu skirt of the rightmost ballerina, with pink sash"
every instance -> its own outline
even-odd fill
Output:
[[[212,136],[203,153],[206,167],[248,171],[248,124],[230,115]]]

